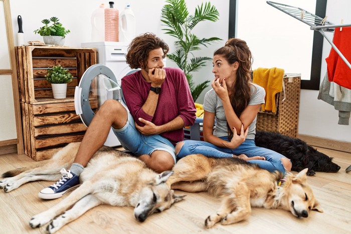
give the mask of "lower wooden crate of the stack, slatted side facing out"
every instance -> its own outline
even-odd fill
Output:
[[[74,102],[21,102],[25,154],[36,161],[49,159],[54,149],[83,139],[87,127],[75,113]]]

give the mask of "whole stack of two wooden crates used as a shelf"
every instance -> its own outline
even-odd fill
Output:
[[[16,47],[25,154],[39,161],[49,159],[70,142],[83,139],[87,127],[75,113],[74,90],[83,73],[96,64],[96,50],[69,47]],[[67,98],[54,99],[45,75],[61,64],[74,76]],[[97,109],[97,101],[90,102]]]

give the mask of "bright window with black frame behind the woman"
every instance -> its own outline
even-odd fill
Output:
[[[284,0],[282,4],[325,16],[326,0]],[[232,37],[248,43],[253,69],[279,67],[286,73],[301,73],[302,89],[319,90],[323,36],[308,25],[262,0],[230,0]]]

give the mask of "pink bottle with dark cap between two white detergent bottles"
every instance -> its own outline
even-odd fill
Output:
[[[113,8],[114,2],[108,2],[110,8],[105,8],[105,41],[118,42],[119,29],[119,12]]]

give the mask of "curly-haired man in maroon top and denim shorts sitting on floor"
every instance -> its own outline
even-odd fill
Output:
[[[106,100],[91,121],[70,170],[42,189],[39,197],[55,199],[79,186],[79,174],[104,144],[111,126],[122,146],[156,172],[175,164],[174,145],[183,140],[183,127],[193,125],[196,108],[189,84],[180,69],[163,68],[168,46],[154,34],[136,37],[126,55],[130,68],[141,68],[122,78],[130,111],[116,100]]]

